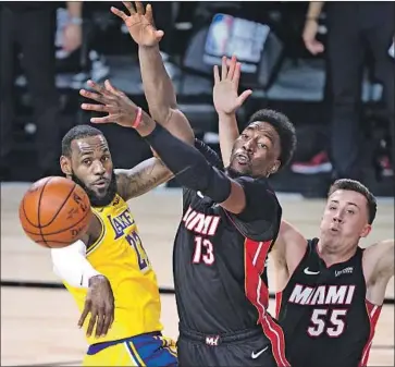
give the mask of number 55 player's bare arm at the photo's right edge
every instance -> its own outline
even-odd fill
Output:
[[[383,303],[388,281],[394,277],[394,240],[381,241],[363,252],[363,274],[367,282],[367,298]]]

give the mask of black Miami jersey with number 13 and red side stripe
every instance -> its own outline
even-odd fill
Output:
[[[213,167],[221,168],[213,150],[202,143],[197,148]],[[266,179],[235,180],[244,186],[247,199],[246,209],[237,216],[200,192],[184,189],[173,253],[180,328],[215,335],[261,323],[275,345],[273,351],[284,360],[282,330],[266,310],[264,273],[282,209]]]

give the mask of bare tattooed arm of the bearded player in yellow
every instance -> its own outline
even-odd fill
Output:
[[[173,173],[158,158],[150,158],[131,170],[115,170],[119,194],[123,199],[148,193],[169,181]]]

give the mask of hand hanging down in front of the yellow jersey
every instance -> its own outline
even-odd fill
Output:
[[[95,276],[89,280],[89,289],[85,298],[85,307],[78,320],[82,327],[90,314],[86,331],[87,337],[94,332],[96,338],[104,337],[114,321],[114,296],[111,284],[103,276]]]

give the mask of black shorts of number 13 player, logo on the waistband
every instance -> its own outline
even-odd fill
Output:
[[[181,329],[177,352],[180,367],[277,366],[261,328],[222,335]]]

